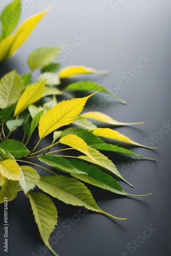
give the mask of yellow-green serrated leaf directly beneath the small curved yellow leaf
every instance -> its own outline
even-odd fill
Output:
[[[91,158],[89,156],[79,156],[78,158],[86,160],[88,162],[97,164],[101,166],[104,169],[110,170],[111,173],[113,173],[115,176],[120,178],[121,180],[125,181],[127,184],[132,186],[129,182],[127,182],[118,172],[115,164],[106,156],[101,154],[99,151],[95,150],[94,148],[89,148],[89,154],[91,155]]]

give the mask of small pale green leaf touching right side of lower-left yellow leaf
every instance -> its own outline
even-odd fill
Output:
[[[27,195],[27,193],[37,185],[39,178],[38,173],[31,166],[20,166],[19,185],[22,187],[25,195]]]

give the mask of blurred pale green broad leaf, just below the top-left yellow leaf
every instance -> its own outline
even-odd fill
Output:
[[[60,54],[62,47],[42,47],[34,50],[28,56],[28,66],[31,70],[44,68]]]

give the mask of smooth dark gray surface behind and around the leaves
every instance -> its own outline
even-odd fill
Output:
[[[9,2],[1,1],[0,8]],[[127,104],[122,105],[114,100],[105,101],[105,108],[100,107],[98,110],[118,121],[145,121],[141,126],[117,128],[139,143],[150,145],[150,136],[158,138],[153,142],[158,150],[145,150],[146,156],[157,158],[156,162],[128,162],[129,158],[111,155],[124,178],[134,184],[134,188],[131,188],[121,182],[123,188],[132,194],[152,192],[152,196],[122,198],[89,186],[103,210],[118,217],[127,217],[127,221],[113,221],[89,212],[70,231],[67,231],[69,226],[64,227],[62,223],[68,221],[68,218],[74,218],[80,208],[56,200],[59,222],[52,236],[56,236],[56,232],[60,230],[63,238],[58,239],[53,248],[61,256],[170,255],[171,131],[162,130],[165,134],[160,132],[162,122],[171,122],[170,1],[116,0],[113,1],[118,4],[115,8],[107,0],[22,2],[25,6],[22,20],[45,9],[49,4],[53,5],[53,9],[41,20],[22,49],[5,63],[1,73],[13,68],[20,74],[28,72],[26,58],[33,49],[61,44],[69,47],[73,44],[75,34],[81,33],[86,38],[62,61],[62,66],[82,64],[96,69],[108,69],[108,76],[92,75],[86,79],[92,79],[112,90],[115,90],[117,82],[121,82],[123,89],[117,95],[126,100]],[[137,71],[135,66],[140,56],[145,55],[151,60],[148,60],[144,68],[140,68],[130,82],[126,82],[128,78],[125,79],[125,72],[128,69]],[[97,106],[101,104],[99,97],[96,97]],[[92,110],[91,103],[88,109]],[[133,150],[141,153],[138,147]],[[29,202],[22,194],[9,204],[9,224],[9,252],[3,253],[1,239],[1,255],[51,255],[46,251],[38,252],[38,245],[43,244],[34,224]],[[156,230],[148,238],[143,238],[142,236],[149,234],[145,231],[146,227],[151,225]],[[0,233],[2,236],[2,227]],[[131,247],[132,240],[137,239],[138,247]],[[33,252],[36,254],[32,254]]]

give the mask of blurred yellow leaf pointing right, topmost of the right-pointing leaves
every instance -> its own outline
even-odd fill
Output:
[[[82,74],[108,74],[107,70],[96,70],[85,66],[68,66],[59,71],[59,78],[68,78]]]

